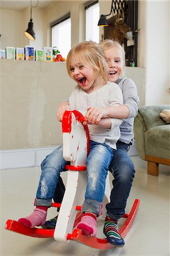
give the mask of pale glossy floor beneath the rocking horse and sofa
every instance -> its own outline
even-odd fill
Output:
[[[135,198],[140,206],[122,248],[98,250],[77,242],[57,242],[53,238],[32,238],[5,230],[7,219],[18,220],[34,209],[32,201],[40,176],[40,167],[0,170],[0,255],[56,255],[56,256],[110,256],[110,255],[169,255],[169,167],[160,165],[158,177],[147,175],[147,164],[138,156],[132,160],[136,176],[127,202],[126,212]],[[64,180],[67,179],[63,176]],[[49,209],[48,218],[55,209]],[[121,222],[120,224],[121,225]],[[102,220],[98,234],[102,234]]]

